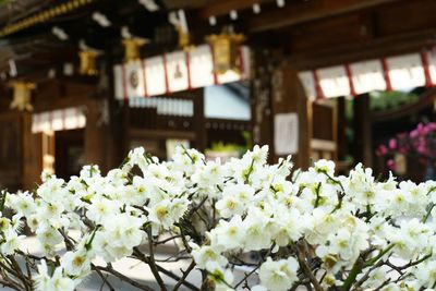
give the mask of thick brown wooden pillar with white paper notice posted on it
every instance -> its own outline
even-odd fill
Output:
[[[255,75],[252,85],[253,99],[253,142],[269,145],[270,162],[279,157],[275,150],[275,118],[280,113],[295,113],[298,117],[296,132],[282,132],[298,138],[298,148],[292,153],[292,160],[298,168],[310,166],[310,141],[312,136],[312,107],[306,98],[298,72],[284,58],[280,62],[269,61],[271,56],[263,50],[255,51]],[[292,131],[291,128],[280,131]],[[277,137],[277,136],[276,136]]]

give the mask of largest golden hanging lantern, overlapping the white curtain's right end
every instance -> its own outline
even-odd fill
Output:
[[[209,35],[206,41],[210,44],[214,53],[214,72],[223,74],[227,71],[240,73],[241,59],[238,49],[245,36],[223,31],[219,35]]]

